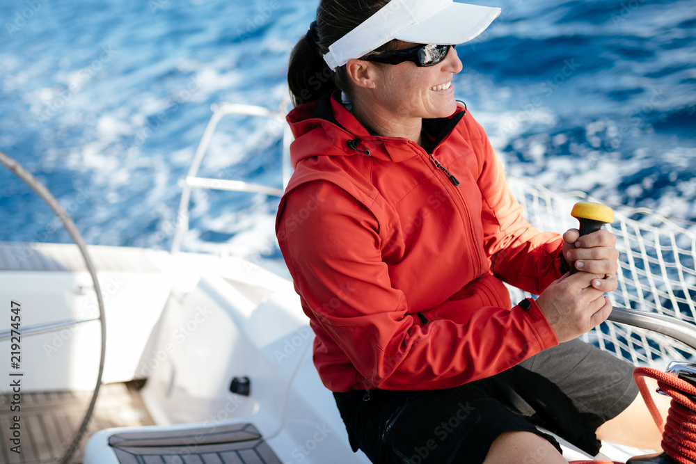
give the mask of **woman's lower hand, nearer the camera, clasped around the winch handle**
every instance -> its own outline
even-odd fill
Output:
[[[617,288],[615,275],[578,272],[555,280],[537,298],[537,305],[559,343],[583,335],[605,321],[612,310],[604,291]]]

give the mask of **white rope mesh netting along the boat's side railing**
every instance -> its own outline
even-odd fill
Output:
[[[578,227],[570,216],[573,205],[594,201],[584,193],[560,195],[514,177],[508,184],[525,217],[544,231],[562,233]],[[696,224],[683,221],[679,225],[647,209],[615,208],[614,212],[614,223],[606,226],[616,235],[619,250],[619,288],[610,295],[612,301],[696,326]],[[529,296],[508,288],[512,301]],[[670,361],[693,362],[690,349],[674,339],[612,321],[590,330],[583,339],[636,366],[665,369]]]

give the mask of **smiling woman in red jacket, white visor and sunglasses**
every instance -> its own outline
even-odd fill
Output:
[[[564,463],[535,424],[592,453],[659,447],[632,367],[576,340],[611,311],[615,237],[532,227],[454,99],[454,45],[498,13],[322,0],[290,58],[278,242],[319,376],[374,463]],[[503,282],[539,297],[512,306]]]

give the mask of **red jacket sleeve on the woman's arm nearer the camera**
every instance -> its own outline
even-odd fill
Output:
[[[404,293],[391,285],[377,219],[330,182],[300,186],[279,211],[280,249],[318,325],[317,337],[331,337],[340,346],[364,388],[461,385],[557,344],[535,303],[528,310],[482,307],[467,321],[421,323],[409,314]]]

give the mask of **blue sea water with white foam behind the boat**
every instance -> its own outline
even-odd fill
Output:
[[[696,0],[477,3],[503,14],[457,47],[455,95],[511,175],[696,219]],[[316,6],[0,0],[0,150],[56,195],[88,243],[168,249],[177,180],[210,106],[277,109]],[[280,186],[280,125],[230,118],[220,129],[200,175]],[[185,245],[246,243],[242,253],[277,258],[276,206],[196,193]],[[4,169],[0,241],[69,241]]]

